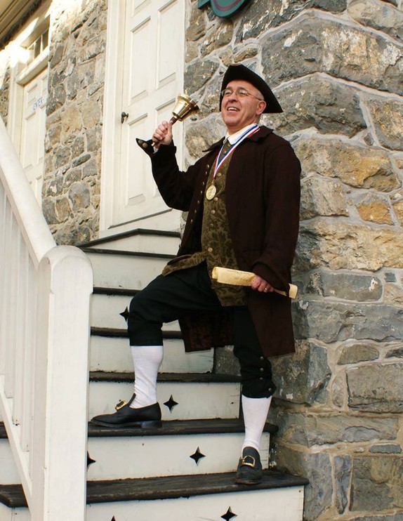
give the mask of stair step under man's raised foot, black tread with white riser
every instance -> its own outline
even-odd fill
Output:
[[[262,435],[261,461],[269,467],[270,432]],[[163,421],[160,428],[88,426],[88,480],[232,472],[244,439],[239,420]]]

